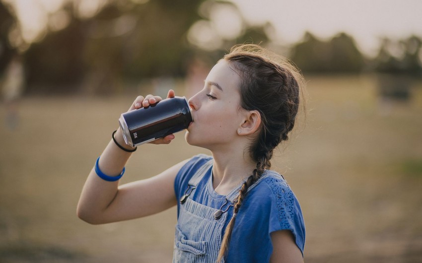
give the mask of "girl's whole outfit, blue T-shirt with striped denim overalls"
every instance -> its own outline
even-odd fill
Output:
[[[176,176],[178,223],[173,262],[214,263],[218,255],[233,215],[230,204],[243,182],[226,196],[216,193],[212,187],[212,161],[211,156],[194,156]],[[181,203],[185,194],[189,197]],[[218,209],[226,212],[215,220],[213,213]],[[300,205],[281,175],[266,170],[243,199],[225,263],[269,262],[273,253],[271,233],[279,230],[291,231],[303,253],[305,226]]]

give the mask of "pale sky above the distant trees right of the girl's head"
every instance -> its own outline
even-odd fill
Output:
[[[359,49],[374,54],[380,38],[422,36],[422,0],[231,0],[250,23],[270,21],[277,39],[299,41],[305,31],[321,39],[338,32],[353,36]]]

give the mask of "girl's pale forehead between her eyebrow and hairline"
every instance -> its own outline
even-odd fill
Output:
[[[226,60],[220,60],[212,67],[207,76],[206,82],[217,83],[223,92],[238,91],[240,77],[234,67]]]

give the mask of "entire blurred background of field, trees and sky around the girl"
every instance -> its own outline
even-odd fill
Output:
[[[421,10],[419,0],[0,0],[0,262],[171,262],[175,208],[91,226],[76,203],[137,95],[189,98],[240,43],[288,57],[306,79],[306,109],[272,162],[302,206],[305,262],[422,262]],[[141,148],[122,183],[208,153],[183,132]]]

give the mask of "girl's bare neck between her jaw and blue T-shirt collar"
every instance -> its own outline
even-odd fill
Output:
[[[248,178],[256,168],[256,163],[248,153],[212,151],[212,185],[220,195],[228,194],[243,179]]]

